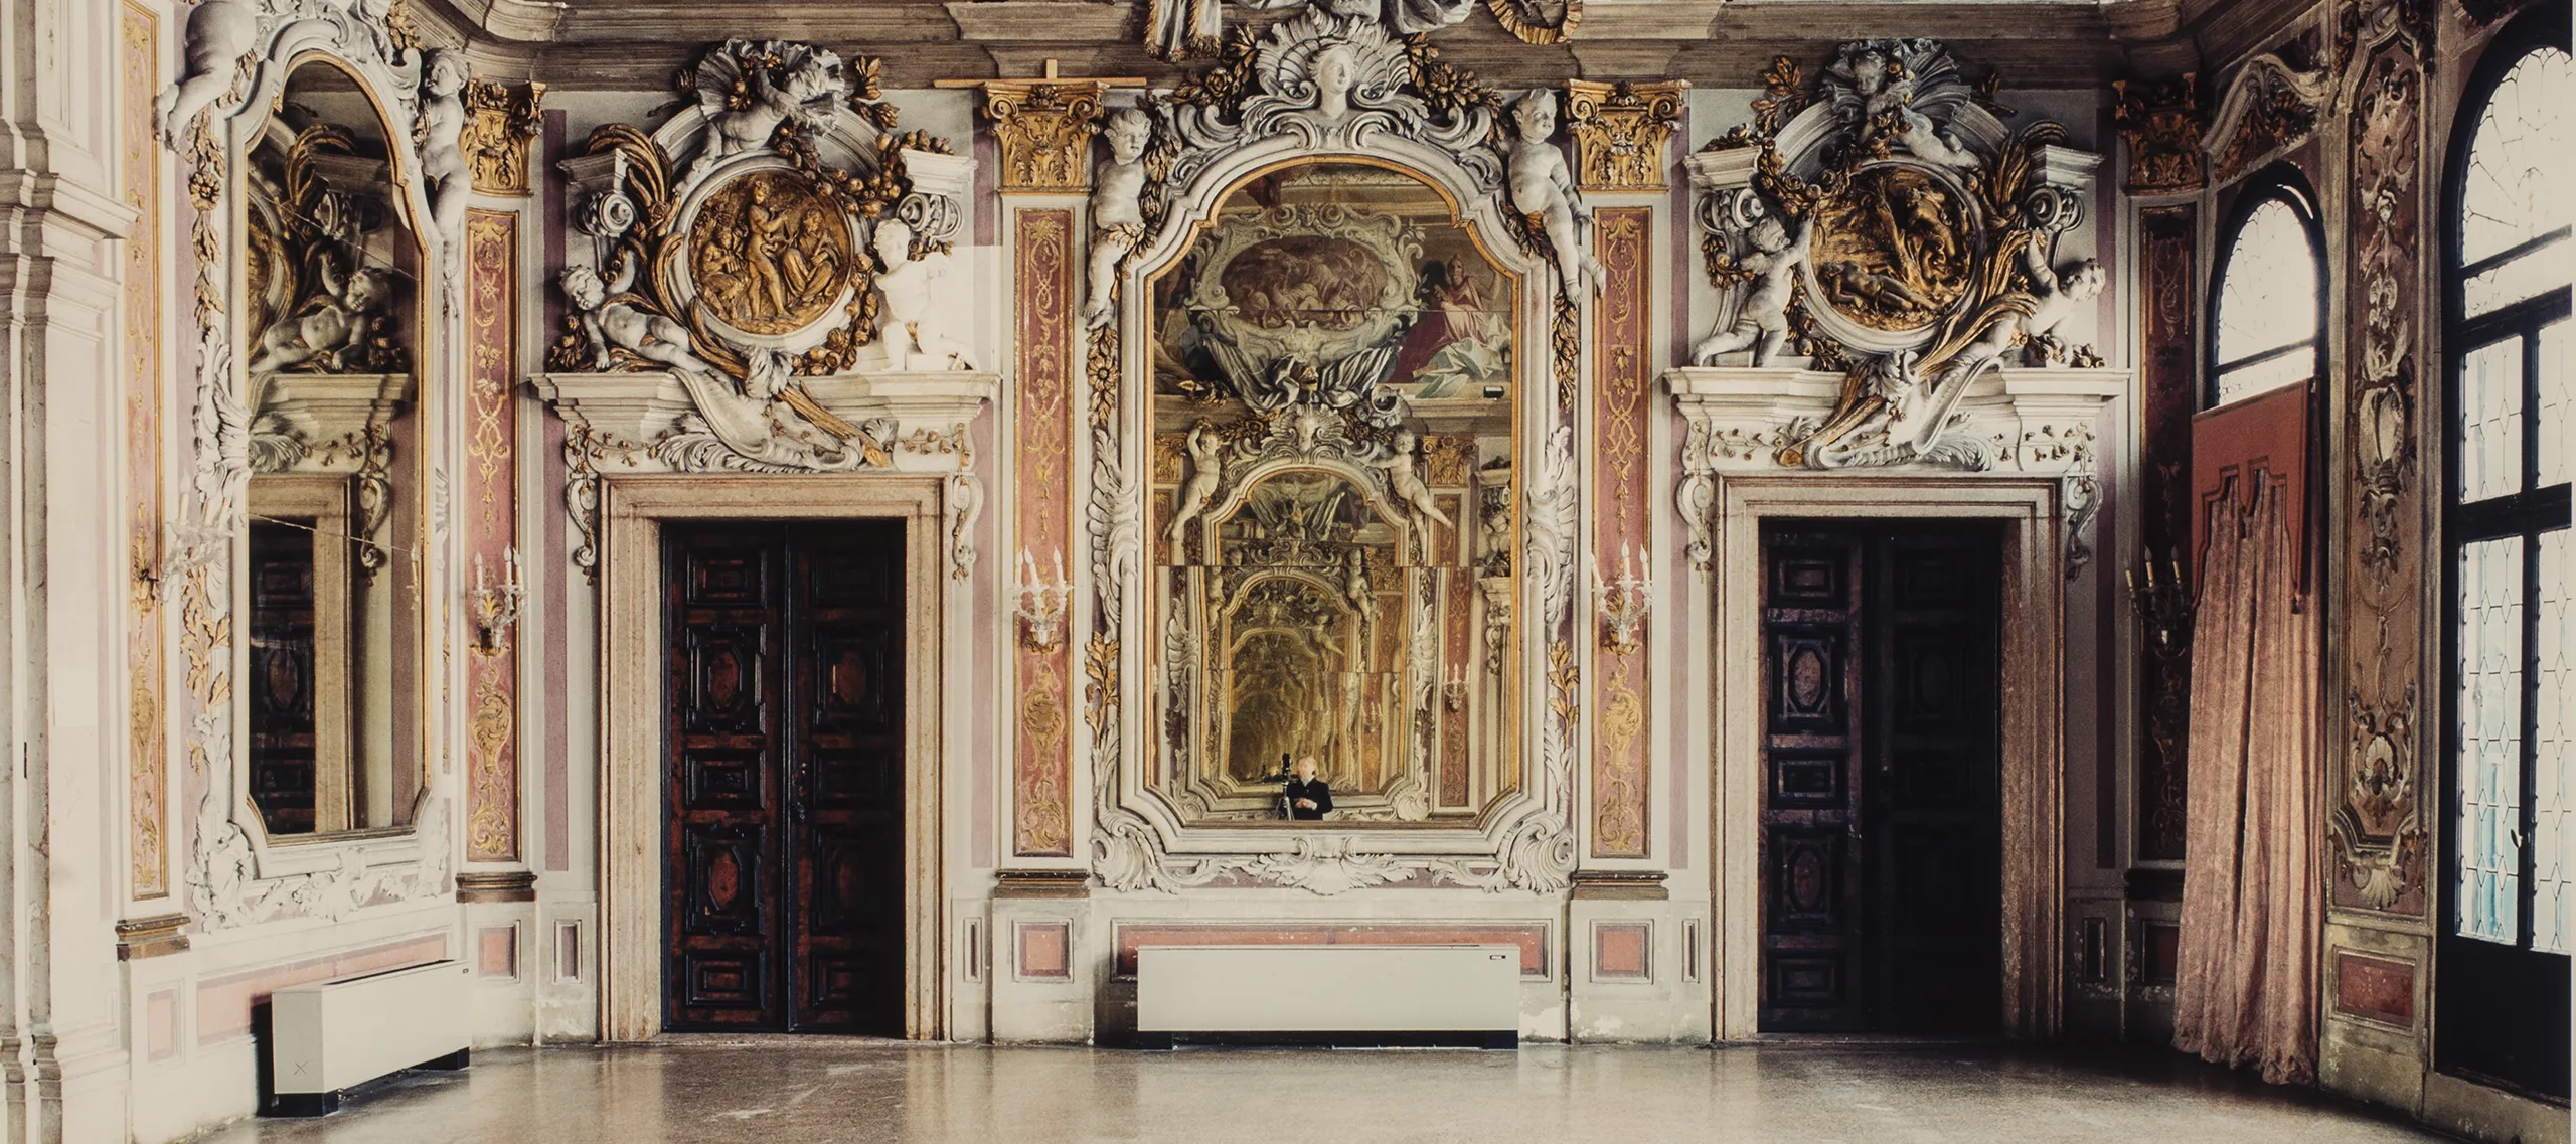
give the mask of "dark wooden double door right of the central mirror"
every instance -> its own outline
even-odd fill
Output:
[[[2002,533],[1762,531],[1762,1031],[1994,1033]]]

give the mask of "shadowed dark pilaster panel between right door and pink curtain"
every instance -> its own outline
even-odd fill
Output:
[[[2133,180],[2136,162],[2136,152],[2130,152]],[[2200,407],[2192,371],[2200,353],[2192,319],[2197,309],[2192,304],[2197,227],[2200,209],[2192,204],[2138,211],[2141,366],[2146,374],[2141,379],[2146,397],[2138,438],[2146,469],[2141,500],[2146,505],[2143,541],[2161,562],[2159,575],[2190,564],[2187,549],[2192,544],[2192,412]],[[2190,636],[2190,626],[2179,626],[2169,639],[2148,631],[2143,652],[2146,742],[2138,747],[2138,858],[2146,861],[2182,861],[2184,745],[2190,742],[2192,711]]]

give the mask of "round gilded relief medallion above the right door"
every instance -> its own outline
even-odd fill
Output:
[[[1883,165],[1816,206],[1816,294],[1870,330],[1922,330],[1968,294],[1968,206],[1942,178]]]

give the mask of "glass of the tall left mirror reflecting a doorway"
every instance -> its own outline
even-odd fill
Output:
[[[422,788],[425,247],[376,98],[299,62],[242,152],[245,796],[270,840],[389,830]]]

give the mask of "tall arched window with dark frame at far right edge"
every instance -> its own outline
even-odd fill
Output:
[[[2470,77],[2442,214],[2447,928],[2437,1064],[2566,1098],[2576,948],[2568,224],[2576,59],[2532,13]],[[2517,1049],[2519,1046],[2519,1049]]]

